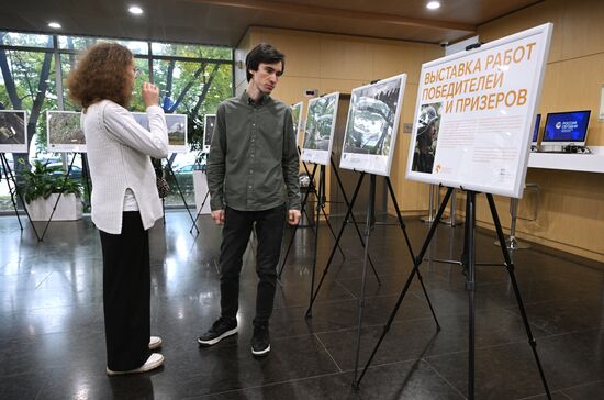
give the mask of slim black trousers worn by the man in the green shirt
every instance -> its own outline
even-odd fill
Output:
[[[242,258],[254,224],[258,247],[256,253],[256,318],[254,325],[266,325],[272,313],[277,284],[277,264],[283,238],[286,205],[265,211],[225,209],[221,245],[221,309],[222,316],[235,318],[239,309],[239,274]]]

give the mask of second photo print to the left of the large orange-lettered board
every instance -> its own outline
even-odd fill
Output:
[[[338,100],[338,92],[309,100],[300,157],[302,162],[329,164]]]

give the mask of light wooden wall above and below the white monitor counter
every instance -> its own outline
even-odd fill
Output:
[[[604,84],[604,1],[548,0],[479,29],[490,41],[544,22],[553,22],[551,52],[544,80],[539,112],[592,110],[588,145],[604,146],[604,124],[597,121]],[[527,192],[521,200],[516,235],[580,256],[604,262],[604,175],[529,168],[527,182],[537,184],[538,198]],[[497,198],[502,224],[510,226],[508,199]],[[478,221],[492,227],[483,200]]]

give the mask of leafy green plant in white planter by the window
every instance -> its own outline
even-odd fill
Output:
[[[21,158],[19,163],[25,165]],[[65,176],[60,166],[49,166],[48,162],[34,162],[34,168],[21,173],[18,190],[25,201],[32,221],[48,221],[56,204],[53,221],[79,220],[82,214],[79,181]],[[60,200],[57,203],[57,198]]]

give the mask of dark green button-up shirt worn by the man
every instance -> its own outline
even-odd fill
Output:
[[[299,159],[291,109],[247,92],[219,104],[208,156],[212,210],[300,210]]]

